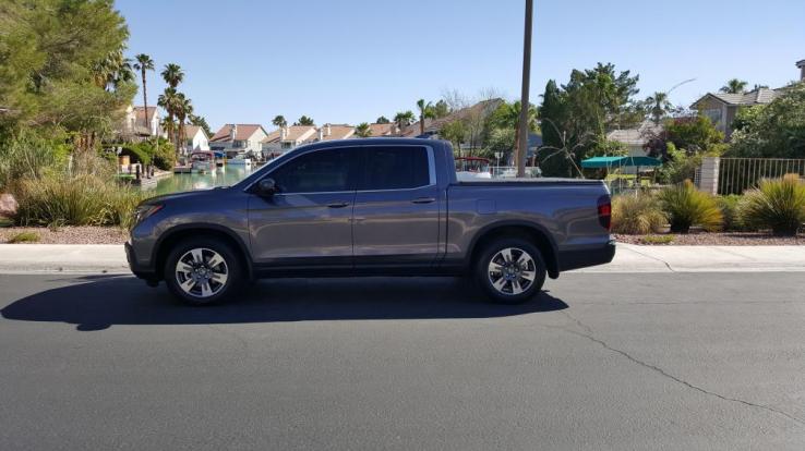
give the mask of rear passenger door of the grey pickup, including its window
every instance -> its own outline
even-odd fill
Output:
[[[355,198],[355,264],[428,265],[438,255],[441,202],[433,149],[365,146]]]

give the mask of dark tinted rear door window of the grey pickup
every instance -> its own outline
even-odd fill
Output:
[[[359,190],[405,190],[430,184],[424,147],[367,147]]]

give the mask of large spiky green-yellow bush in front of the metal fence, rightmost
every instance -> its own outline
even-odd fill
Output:
[[[805,185],[797,174],[764,179],[738,204],[741,220],[757,229],[771,229],[776,235],[795,235],[805,222]]]

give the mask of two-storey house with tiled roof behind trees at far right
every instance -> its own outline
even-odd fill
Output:
[[[797,61],[796,66],[800,69],[800,81],[805,82],[805,60]],[[716,129],[723,132],[726,139],[730,139],[733,132],[732,122],[738,109],[771,103],[785,89],[785,87],[778,89],[761,87],[741,94],[708,93],[696,100],[690,108],[710,118]]]

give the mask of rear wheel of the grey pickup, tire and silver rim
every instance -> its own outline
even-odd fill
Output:
[[[478,255],[474,277],[491,301],[520,304],[545,283],[548,269],[540,251],[522,239],[500,239]]]

